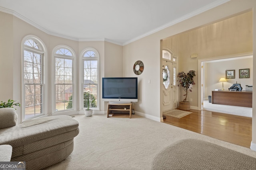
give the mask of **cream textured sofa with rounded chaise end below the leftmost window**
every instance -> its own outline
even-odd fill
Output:
[[[31,119],[17,125],[14,108],[0,109],[0,145],[12,146],[11,161],[25,161],[27,170],[46,168],[73,151],[78,121],[66,115]]]

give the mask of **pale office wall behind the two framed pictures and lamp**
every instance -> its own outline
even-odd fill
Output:
[[[252,85],[253,80],[253,59],[234,59],[229,61],[217,61],[211,63],[205,63],[205,82],[204,86],[207,90],[204,93],[204,98],[212,95],[212,90],[222,89],[222,82],[218,82],[220,78],[226,78],[226,70],[235,70],[235,78],[226,79],[228,82],[224,82],[224,90],[228,90],[236,82],[241,84],[242,90],[245,90],[246,85]],[[239,78],[239,69],[250,69],[250,78]]]

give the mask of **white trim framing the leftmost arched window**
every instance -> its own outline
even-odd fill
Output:
[[[30,117],[28,119],[34,119],[36,117],[40,117],[40,116],[43,116],[43,115],[47,115],[47,97],[48,97],[48,85],[47,85],[47,82],[46,80],[48,80],[48,68],[47,68],[47,49],[46,49],[46,45],[44,44],[44,42],[37,36],[35,35],[27,35],[25,36],[22,41],[21,41],[21,113],[22,113],[22,122],[25,121],[25,120],[28,120],[28,119],[25,119],[25,92],[24,92],[24,43],[26,40],[28,39],[35,39],[36,41],[38,41],[40,43],[40,45],[42,46],[42,51],[40,50],[34,50],[34,51],[38,51],[40,53],[42,53],[43,55],[43,67],[42,67],[42,82],[44,84],[43,86],[43,106],[42,106],[42,109],[43,109],[43,113],[40,114],[40,115],[37,115],[37,116],[33,116],[33,117]]]

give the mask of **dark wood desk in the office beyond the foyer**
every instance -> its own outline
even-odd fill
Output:
[[[252,92],[212,91],[212,104],[252,107]]]

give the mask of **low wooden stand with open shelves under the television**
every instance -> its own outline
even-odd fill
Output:
[[[132,103],[116,104],[108,103],[108,117],[131,118]]]

